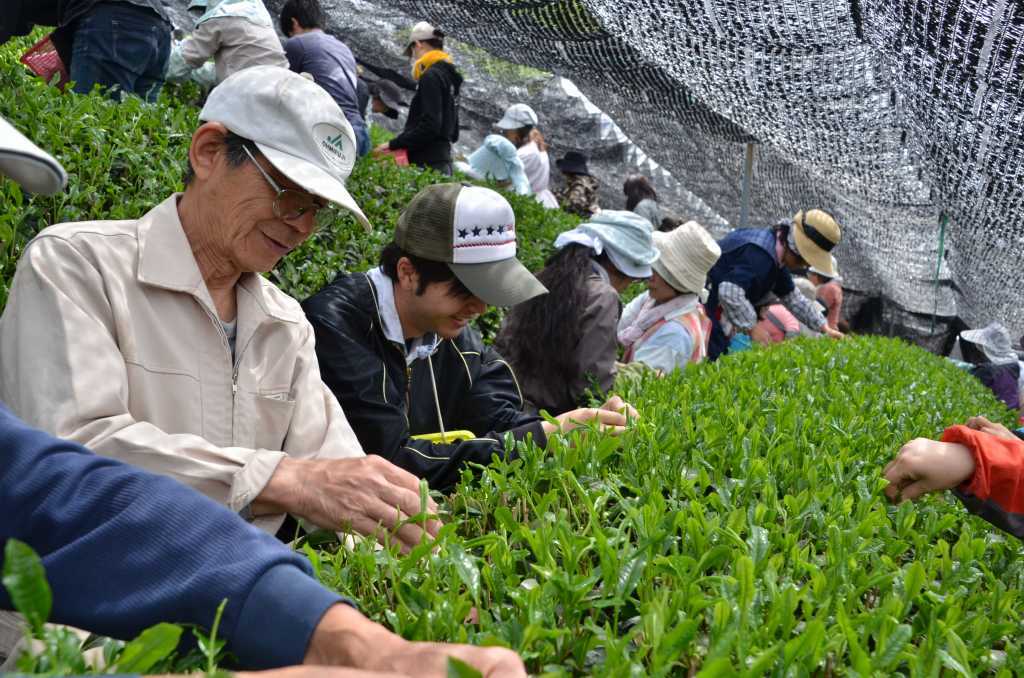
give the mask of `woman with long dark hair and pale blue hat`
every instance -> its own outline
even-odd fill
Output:
[[[651,234],[632,212],[603,211],[555,241],[558,252],[537,276],[549,293],[512,308],[496,341],[536,409],[565,412],[592,387],[611,388],[618,294],[650,277]]]

